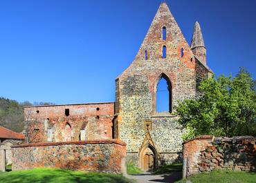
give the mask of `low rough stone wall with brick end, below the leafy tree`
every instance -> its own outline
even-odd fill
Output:
[[[256,171],[256,137],[202,135],[183,143],[183,177],[221,168]]]

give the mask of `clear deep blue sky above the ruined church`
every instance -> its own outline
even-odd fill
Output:
[[[166,1],[190,43],[201,24],[208,66],[256,75],[255,0]],[[115,100],[157,0],[0,1],[0,96],[55,104]]]

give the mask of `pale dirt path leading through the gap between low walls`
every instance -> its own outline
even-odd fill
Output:
[[[154,182],[166,182],[172,183],[177,180],[181,180],[181,172],[172,172],[168,174],[154,175],[152,173],[142,173],[139,175],[127,175],[128,178],[136,180],[138,183],[154,183]]]

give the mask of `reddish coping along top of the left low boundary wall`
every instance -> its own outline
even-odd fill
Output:
[[[40,142],[36,144],[19,144],[11,146],[12,148],[19,147],[32,147],[32,146],[61,146],[68,144],[118,144],[126,146],[125,142],[120,139],[95,139],[95,140],[82,140],[82,141],[71,141],[71,142]]]

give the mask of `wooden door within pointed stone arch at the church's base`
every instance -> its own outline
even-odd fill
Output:
[[[140,150],[140,168],[143,171],[154,171],[157,165],[156,148],[151,144],[147,144]]]

